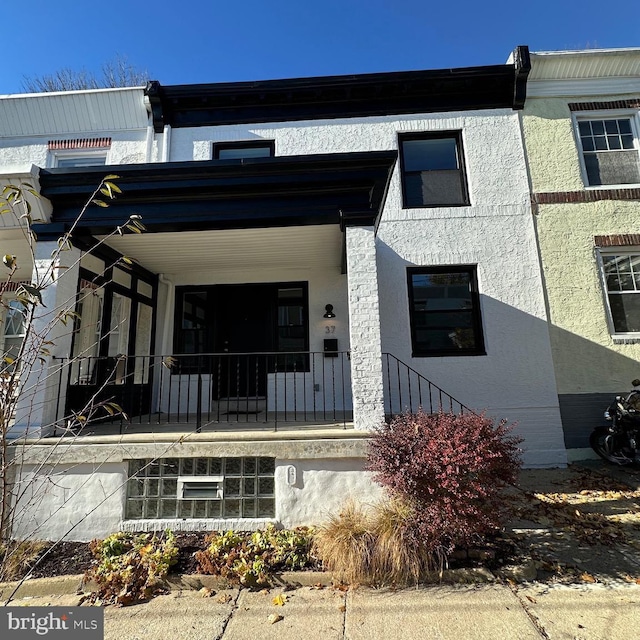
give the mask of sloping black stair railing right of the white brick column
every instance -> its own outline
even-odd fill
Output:
[[[425,413],[475,413],[390,353],[382,354],[382,375],[387,418],[419,409]]]

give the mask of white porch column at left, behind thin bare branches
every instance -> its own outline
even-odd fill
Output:
[[[43,305],[36,308],[33,325],[28,330],[23,379],[12,437],[37,438],[47,435],[56,420],[58,407],[64,410],[67,369],[60,376],[60,361],[54,357],[71,355],[73,319],[66,326],[56,320],[60,313],[75,309],[80,251],[72,248],[60,253],[55,268],[51,269],[52,253],[58,248],[53,241],[38,242],[35,251],[33,282],[44,287]],[[42,338],[53,344],[44,345],[50,355],[38,354]]]

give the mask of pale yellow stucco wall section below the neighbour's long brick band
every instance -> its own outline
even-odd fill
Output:
[[[537,216],[558,392],[619,392],[640,374],[639,344],[609,332],[595,235],[640,233],[638,202],[544,205]]]

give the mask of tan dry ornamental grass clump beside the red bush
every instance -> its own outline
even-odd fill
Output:
[[[441,570],[445,557],[420,544],[414,518],[411,507],[400,500],[368,508],[349,501],[320,527],[315,553],[344,582],[417,584]]]

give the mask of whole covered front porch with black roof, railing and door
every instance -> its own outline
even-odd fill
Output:
[[[76,225],[65,278],[77,278],[80,318],[48,362],[31,426],[39,419],[59,435],[69,424],[117,433],[379,423],[379,321],[370,318],[371,340],[357,315],[378,304],[375,225],[394,163],[395,152],[368,152],[42,171],[54,216],[36,229],[38,249],[46,255]],[[111,170],[123,194],[76,221]],[[131,213],[145,232],[113,234]],[[354,398],[371,376],[367,422]],[[91,429],[70,422],[97,405]],[[116,406],[126,419],[110,415]]]

